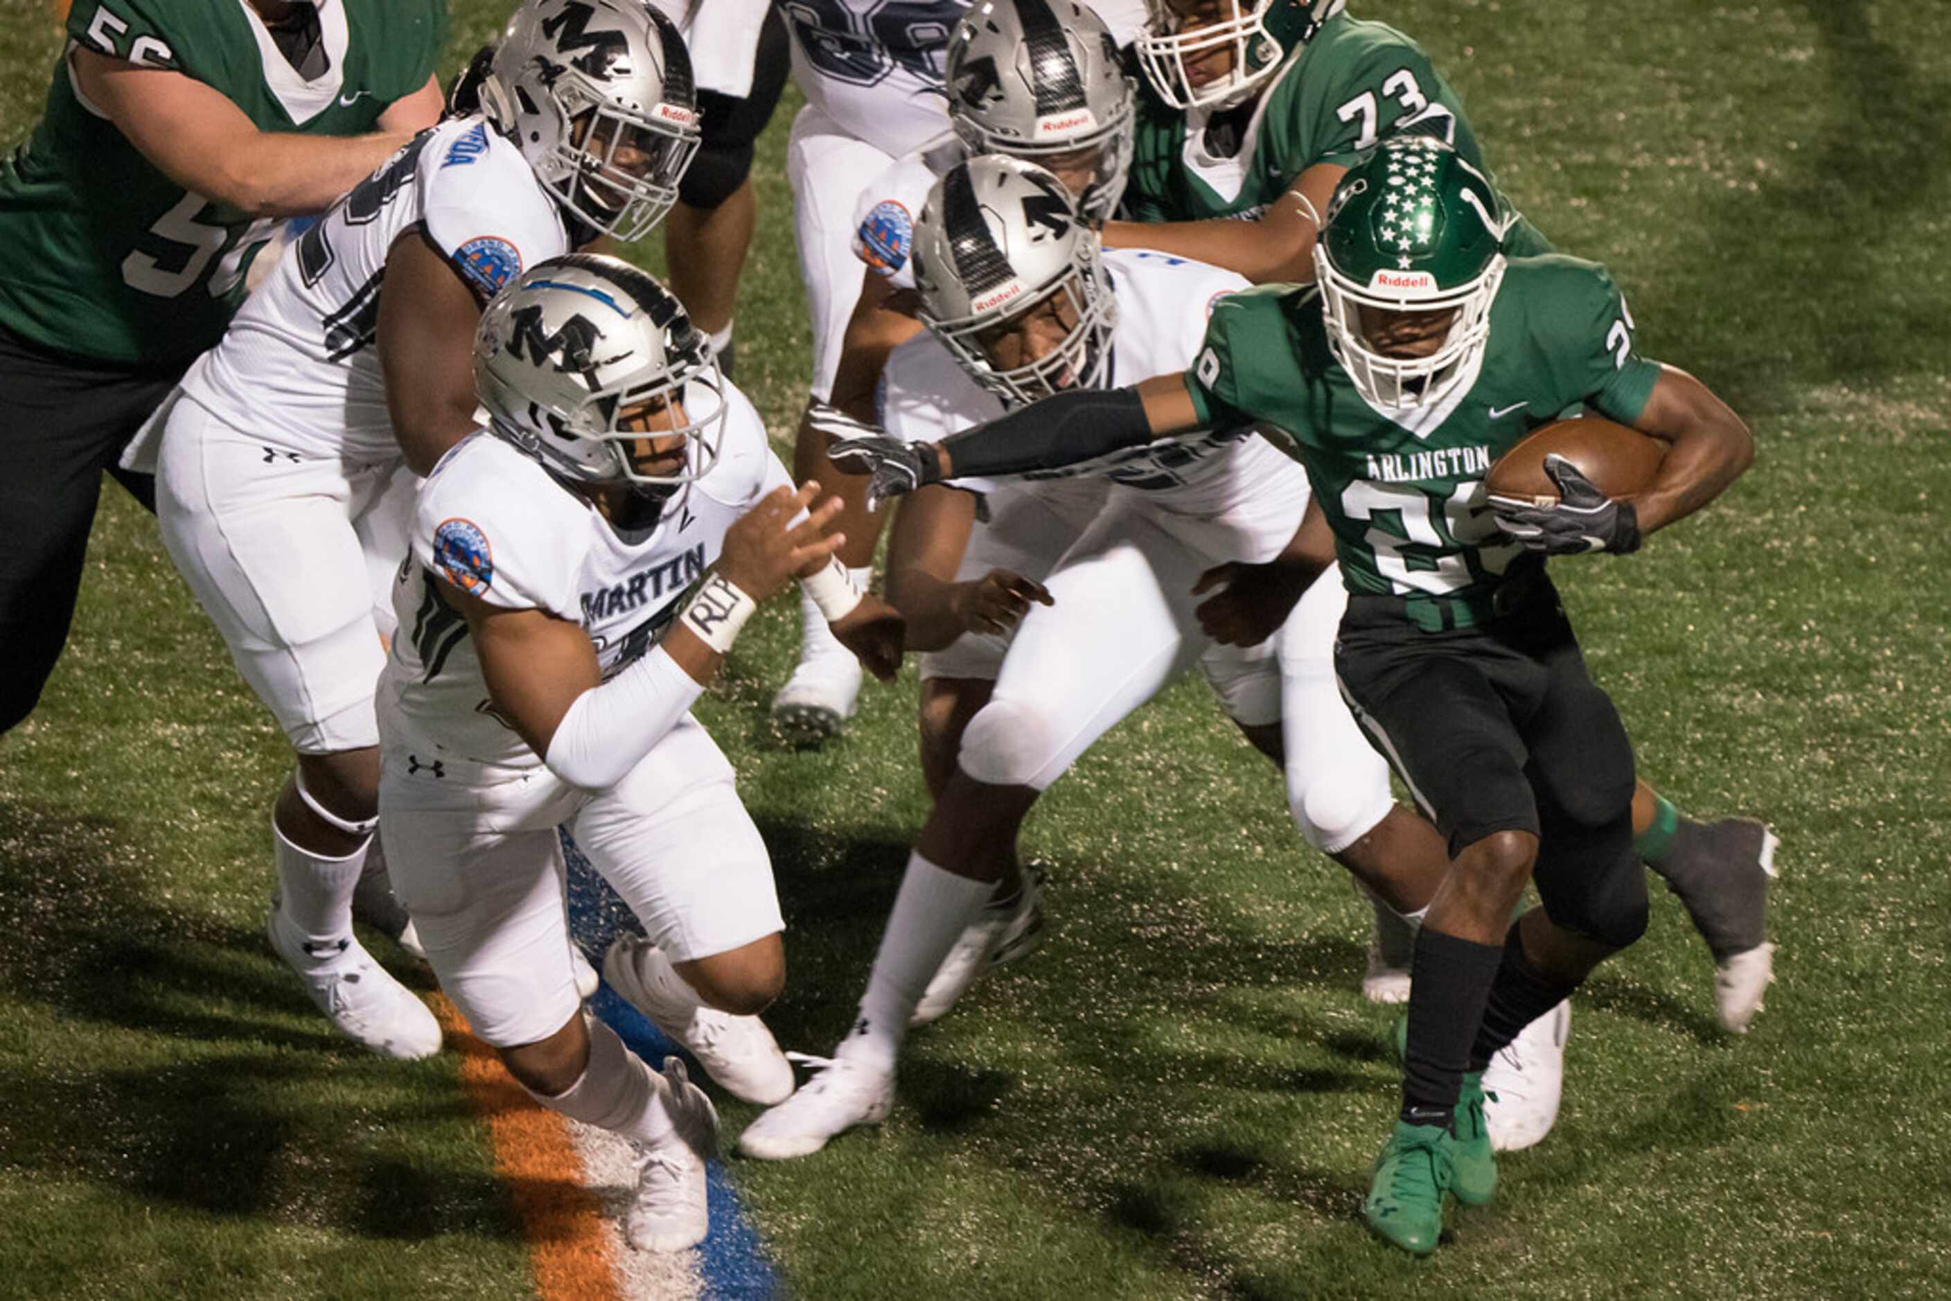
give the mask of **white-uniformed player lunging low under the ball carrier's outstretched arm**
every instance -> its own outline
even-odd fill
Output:
[[[890,390],[903,394],[890,402],[897,429],[907,419],[899,400],[938,404],[960,427],[1059,390],[1182,369],[1204,337],[1198,304],[1245,289],[1233,273],[1176,257],[1104,256],[1057,177],[1001,156],[974,158],[936,183],[917,222],[913,259],[931,337],[890,361]],[[960,375],[938,361],[929,365],[927,349],[952,355]],[[938,417],[921,423],[942,433]],[[915,429],[911,437],[919,435]],[[913,599],[903,614],[913,616],[921,642],[993,632],[1028,612],[1001,669],[989,667],[993,687],[977,648],[952,665],[964,677],[931,675],[936,681],[923,708],[936,708],[936,724],[952,731],[958,712],[972,716],[960,745],[952,737],[940,745],[956,753],[956,769],[907,862],[860,1016],[833,1063],[753,1122],[739,1151],[800,1157],[888,1114],[896,1055],[917,1005],[925,991],[944,1005],[952,1001],[952,991],[929,985],[944,977],[942,964],[958,938],[970,926],[987,926],[997,942],[1022,930],[1034,886],[1018,886],[1016,831],[1038,794],[1202,657],[1227,712],[1286,763],[1290,804],[1313,845],[1405,911],[1426,907],[1442,880],[1442,841],[1428,823],[1395,808],[1387,769],[1362,753],[1362,733],[1336,692],[1334,591],[1321,593],[1313,607],[1303,601],[1280,628],[1278,648],[1270,640],[1276,630],[1266,628],[1266,640],[1254,638],[1258,644],[1245,651],[1214,653],[1202,628],[1196,593],[1204,581],[1274,566],[1305,585],[1327,568],[1333,550],[1325,531],[1297,529],[1307,505],[1299,466],[1258,437],[1190,435],[1096,470],[1110,480],[1104,507],[1059,558],[1034,554],[1040,546],[1026,546],[1030,534],[1022,531],[999,538],[1005,548],[1015,544],[1018,564],[1048,566],[1040,583],[1020,572],[991,581],[987,546],[976,548],[974,564],[964,558],[958,575],[976,591],[944,583],[940,566],[933,573],[894,573],[890,562],[890,587]],[[909,540],[927,548],[936,529],[966,536],[974,503],[956,495],[917,497],[913,505],[925,515],[915,519],[903,507],[896,548],[907,552]],[[1005,497],[1005,505],[1016,503]],[[1061,527],[1042,532],[1061,542]],[[983,583],[1003,591],[981,593]],[[983,954],[979,944],[970,948]],[[979,969],[979,962],[970,966]]]

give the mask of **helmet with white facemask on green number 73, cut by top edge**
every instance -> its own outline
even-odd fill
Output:
[[[1137,66],[1175,109],[1225,109],[1258,94],[1346,0],[1145,0]],[[1196,21],[1188,21],[1196,20]],[[1225,72],[1192,68],[1231,49]]]

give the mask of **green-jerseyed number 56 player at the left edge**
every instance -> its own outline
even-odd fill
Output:
[[[33,135],[0,164],[0,731],[60,655],[101,472],[217,343],[281,217],[441,113],[441,0],[74,0]]]

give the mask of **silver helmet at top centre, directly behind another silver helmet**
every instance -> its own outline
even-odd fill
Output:
[[[1132,166],[1135,88],[1118,45],[1077,0],[979,0],[948,39],[948,121],[972,154],[1011,154],[1059,174],[1091,166],[1079,209],[1110,218]],[[1095,150],[1095,160],[1087,150]]]

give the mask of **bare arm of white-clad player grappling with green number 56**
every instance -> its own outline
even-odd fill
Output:
[[[392,431],[414,474],[427,474],[472,433],[474,328],[480,300],[453,263],[416,228],[386,254],[378,298],[378,363]]]

